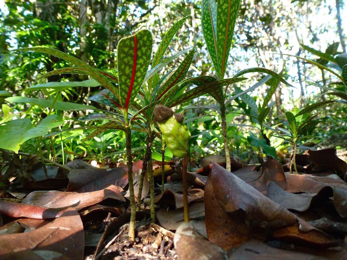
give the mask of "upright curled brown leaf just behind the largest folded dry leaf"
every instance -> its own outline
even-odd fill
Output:
[[[233,173],[265,195],[270,181],[276,182],[282,189],[286,188],[286,175],[279,161],[270,159],[264,163],[263,169],[256,171],[256,168],[256,165],[245,166]]]

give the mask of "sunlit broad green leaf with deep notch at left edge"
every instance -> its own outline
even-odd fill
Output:
[[[60,115],[49,115],[36,127],[28,118],[7,121],[0,125],[0,148],[18,153],[20,145],[26,140],[46,135],[50,129],[63,123]]]

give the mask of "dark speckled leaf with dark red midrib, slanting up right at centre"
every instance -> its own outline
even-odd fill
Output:
[[[161,83],[156,94],[156,100],[161,99],[162,96],[165,95],[173,86],[186,77],[188,69],[193,61],[194,53],[195,48],[187,54],[180,66],[178,66],[178,68],[164,82]]]

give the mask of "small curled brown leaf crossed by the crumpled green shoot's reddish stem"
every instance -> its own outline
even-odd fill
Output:
[[[188,190],[188,203],[202,199],[204,197],[204,191],[202,189],[190,189]],[[171,190],[164,190],[163,193],[154,197],[154,203],[158,205],[169,206],[171,209],[183,208],[183,194],[174,193]]]

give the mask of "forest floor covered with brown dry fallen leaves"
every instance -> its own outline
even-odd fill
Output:
[[[219,155],[192,162],[190,224],[180,162],[168,163],[163,193],[155,163],[155,223],[145,178],[134,242],[126,165],[77,159],[66,164],[70,172],[47,166],[47,178],[37,156],[8,156],[13,177],[0,191],[0,259],[346,259],[346,151],[337,156],[331,148],[346,140],[331,136],[320,150],[297,154],[299,174],[290,172],[290,154],[282,165],[232,160],[232,173]],[[133,171],[137,196],[142,161]]]

